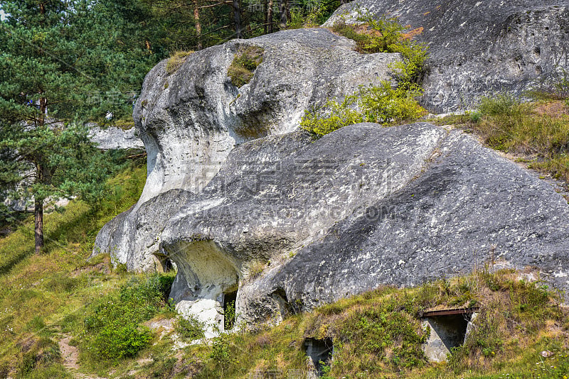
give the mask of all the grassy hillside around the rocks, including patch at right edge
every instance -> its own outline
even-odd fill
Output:
[[[504,97],[486,106],[440,123],[569,177],[566,104]],[[380,287],[190,344],[201,325],[174,312],[174,273],[126,273],[108,256],[87,262],[97,231],[137,201],[145,176],[144,163],[133,164],[98,207],[72,202],[46,215],[42,256],[33,254],[32,219],[0,238],[0,378],[306,378],[307,338],[334,344],[323,378],[569,378],[569,309],[529,269],[486,266],[417,288]],[[429,363],[419,315],[444,307],[479,307],[479,317],[447,363]]]

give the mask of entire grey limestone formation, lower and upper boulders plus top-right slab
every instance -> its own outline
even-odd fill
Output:
[[[567,66],[566,9],[553,3],[366,4],[422,26],[425,99],[455,109]],[[265,53],[238,88],[228,67],[247,46]],[[95,253],[131,270],[174,262],[178,309],[222,327],[235,292],[239,317],[264,321],[492,260],[569,289],[567,202],[471,136],[428,123],[358,124],[314,143],[298,131],[305,109],[389,79],[400,60],[353,48],[324,28],[283,31],[193,53],[175,72],[166,60],[154,67],[134,109],[147,183],[100,231]]]

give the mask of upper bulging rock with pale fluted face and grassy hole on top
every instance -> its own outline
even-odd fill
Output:
[[[237,88],[227,72],[240,46],[265,53],[252,80]],[[326,29],[299,29],[198,51],[173,73],[167,60],[156,65],[134,108],[148,154],[144,192],[128,214],[102,229],[95,253],[110,252],[129,269],[154,267],[151,253],[159,251],[150,241],[167,219],[161,210],[166,202],[156,196],[173,189],[200,192],[236,144],[297,129],[310,106],[389,79],[388,64],[400,60],[398,54],[362,55],[353,48],[352,40]],[[155,205],[148,207],[160,212],[141,216],[150,199]],[[141,217],[148,225],[137,221]]]

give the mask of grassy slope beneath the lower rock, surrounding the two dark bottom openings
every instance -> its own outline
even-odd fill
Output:
[[[569,368],[569,319],[558,296],[541,282],[514,271],[479,271],[418,288],[380,287],[362,295],[297,314],[278,326],[237,332],[209,346],[191,346],[182,361],[193,362],[195,378],[300,375],[307,366],[305,338],[331,338],[334,359],[326,378],[563,378]],[[420,311],[475,304],[477,331],[450,363],[428,363],[421,344]],[[541,351],[551,351],[551,358]],[[552,368],[552,367],[555,368]],[[541,367],[541,366],[540,366]],[[180,374],[183,375],[183,374]]]

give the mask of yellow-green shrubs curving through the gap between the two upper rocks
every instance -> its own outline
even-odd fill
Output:
[[[422,95],[420,83],[425,75],[427,48],[403,37],[405,29],[395,18],[374,19],[360,15],[360,26],[346,25],[339,20],[332,31],[356,41],[361,53],[400,53],[403,61],[390,65],[395,87],[385,80],[379,85],[360,87],[356,94],[343,101],[327,101],[324,106],[304,113],[300,127],[319,138],[336,129],[358,122],[383,125],[415,121],[423,109],[416,100]]]

